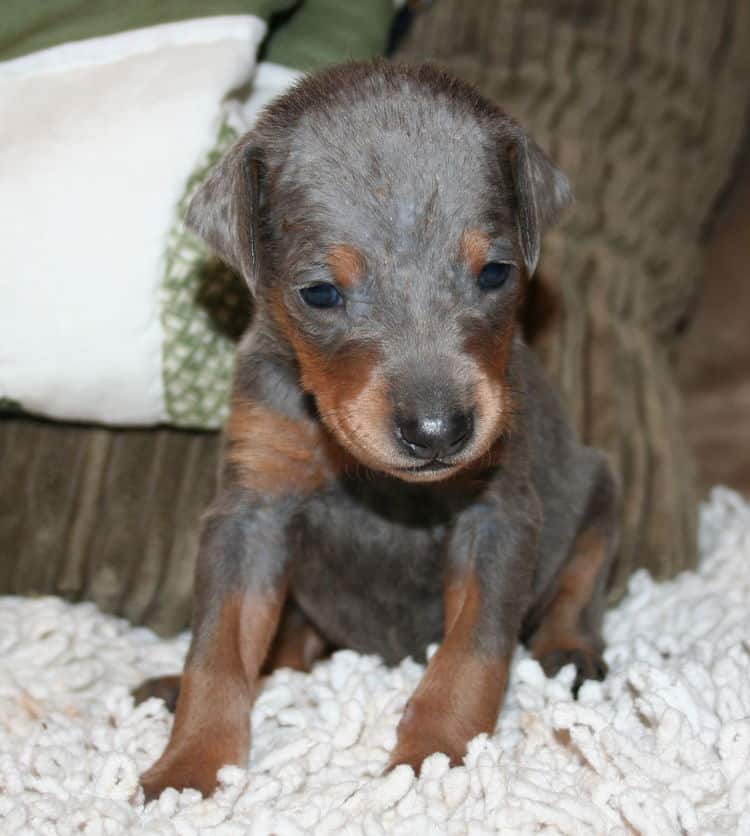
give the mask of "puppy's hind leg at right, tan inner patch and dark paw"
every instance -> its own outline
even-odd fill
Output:
[[[603,467],[580,533],[530,641],[531,652],[547,676],[564,665],[575,665],[574,694],[586,679],[604,679],[607,674],[601,624],[615,547],[614,504],[614,484]]]

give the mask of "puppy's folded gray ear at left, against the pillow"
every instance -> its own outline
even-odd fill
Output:
[[[190,201],[185,222],[250,290],[258,278],[258,212],[263,172],[251,134],[227,151]]]

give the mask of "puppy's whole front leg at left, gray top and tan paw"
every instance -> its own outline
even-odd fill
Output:
[[[272,509],[229,509],[203,528],[193,641],[169,743],[141,778],[147,799],[166,787],[208,795],[221,766],[247,758],[255,684],[284,605],[285,542]]]

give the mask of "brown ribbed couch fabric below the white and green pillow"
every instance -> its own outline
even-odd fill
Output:
[[[0,420],[0,593],[93,600],[164,634],[185,627],[218,441]]]

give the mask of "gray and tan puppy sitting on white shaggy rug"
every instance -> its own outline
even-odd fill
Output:
[[[255,301],[206,516],[172,736],[142,777],[246,762],[261,669],[442,642],[390,765],[491,732],[516,642],[601,679],[613,479],[516,314],[570,199],[523,130],[431,66],[346,64],[273,103],[188,224]]]

